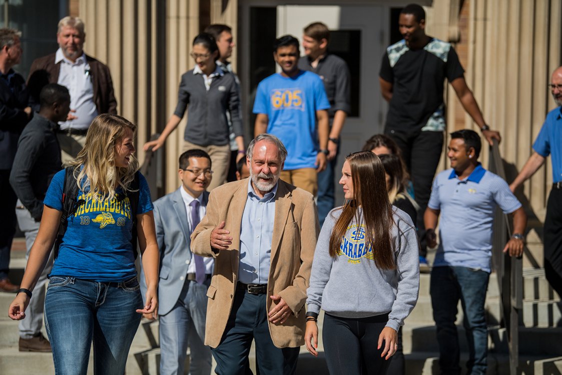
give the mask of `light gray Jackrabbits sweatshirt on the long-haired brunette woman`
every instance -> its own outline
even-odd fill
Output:
[[[387,327],[398,330],[404,324],[418,301],[419,246],[410,217],[396,207],[393,210],[395,225],[391,238],[396,262],[393,270],[375,265],[377,249],[373,251],[366,246],[364,224],[358,227],[355,218],[342,238],[337,257],[330,257],[330,235],[342,210],[338,207],[330,211],[312,262],[306,301],[309,312],[319,313],[322,308],[342,318],[389,313]]]

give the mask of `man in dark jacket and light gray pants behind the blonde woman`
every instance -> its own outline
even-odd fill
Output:
[[[70,111],[69,91],[58,84],[46,85],[40,93],[40,109],[25,127],[17,145],[10,173],[10,184],[16,192],[17,222],[25,234],[26,259],[37,237],[43,213],[43,199],[53,175],[62,168],[61,149],[56,137],[57,122],[64,121]],[[49,257],[35,285],[33,298],[20,321],[20,351],[51,351],[43,337],[44,284],[51,272],[53,255]]]

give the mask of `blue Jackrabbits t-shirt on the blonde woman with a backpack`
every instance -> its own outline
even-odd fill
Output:
[[[65,170],[53,177],[43,201],[62,211]],[[136,275],[132,238],[132,213],[129,198],[117,189],[114,199],[93,200],[88,191],[79,190],[78,200],[85,200],[74,215],[58,250],[50,276],[71,276],[99,282],[125,281]],[[152,211],[150,190],[139,173],[137,214]]]

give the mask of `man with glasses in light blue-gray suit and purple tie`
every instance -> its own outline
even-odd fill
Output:
[[[213,258],[193,255],[189,236],[205,216],[212,179],[211,158],[191,149],[179,157],[182,186],[154,202],[156,237],[160,249],[158,313],[160,315],[160,374],[183,374],[187,344],[190,373],[211,373],[211,350],[205,342],[207,288]],[[143,278],[141,277],[141,280]],[[154,316],[146,316],[155,319]]]

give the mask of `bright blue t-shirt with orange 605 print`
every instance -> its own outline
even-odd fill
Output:
[[[270,75],[257,86],[253,113],[268,115],[269,134],[287,148],[285,170],[316,168],[318,127],[316,111],[330,108],[320,77],[300,71],[296,77]]]

